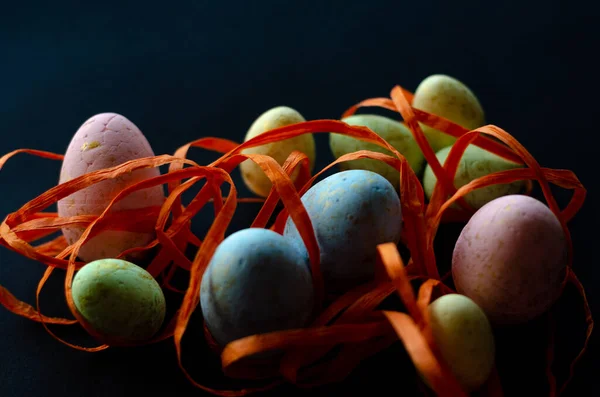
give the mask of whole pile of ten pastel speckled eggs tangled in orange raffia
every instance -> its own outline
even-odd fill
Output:
[[[413,107],[436,114],[469,130],[483,126],[484,112],[473,92],[446,75],[421,82]],[[305,121],[296,110],[280,106],[267,110],[250,126],[245,140],[274,128]],[[408,161],[431,197],[436,178],[401,122],[374,114],[342,119],[368,127]],[[443,164],[453,137],[422,125]],[[358,150],[390,154],[375,144],[342,134],[330,134],[331,154],[339,158]],[[300,151],[315,164],[311,134],[245,149],[283,164]],[[60,182],[136,158],[153,156],[141,131],[118,114],[99,114],[86,121],[66,152]],[[457,188],[497,172],[519,167],[471,145],[454,178]],[[271,180],[251,160],[240,165],[246,186],[266,197]],[[98,215],[124,187],[157,176],[143,169],[118,180],[107,180],[63,198],[60,216]],[[297,173],[291,175],[295,180]],[[302,195],[320,252],[325,290],[340,295],[373,278],[377,246],[401,244],[402,203],[399,173],[373,159],[340,163],[338,172],[314,184]],[[493,326],[529,321],[544,313],[558,298],[567,265],[567,242],[560,222],[541,201],[521,194],[520,182],[494,185],[469,193],[465,200],[477,210],[456,241],[452,278],[456,294],[430,304],[435,343],[449,368],[467,390],[487,379],[495,359]],[[115,210],[160,206],[162,187],[139,190],[121,200]],[[82,229],[63,230],[74,243]],[[107,341],[138,342],[156,334],[165,317],[160,286],[135,257],[115,259],[122,251],[147,244],[147,233],[106,230],[87,241],[79,257],[87,264],[73,280],[77,314],[95,334]],[[226,237],[216,249],[202,278],[200,307],[207,329],[225,346],[239,338],[302,328],[312,319],[315,294],[308,250],[291,218],[282,234],[248,228]],[[268,307],[268,310],[265,310]]]

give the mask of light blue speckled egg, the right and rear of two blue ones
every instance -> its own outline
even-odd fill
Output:
[[[377,245],[400,241],[402,208],[398,193],[381,175],[367,170],[338,172],[312,186],[302,203],[319,244],[326,288],[341,291],[373,277]],[[292,218],[284,236],[308,260]]]

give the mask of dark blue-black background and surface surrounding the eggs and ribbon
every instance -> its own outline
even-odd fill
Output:
[[[446,73],[477,93],[488,122],[512,133],[543,166],[573,170],[588,188],[586,205],[570,227],[575,269],[600,313],[593,255],[600,192],[591,143],[597,139],[592,124],[597,65],[591,60],[598,41],[596,10],[547,1],[494,6],[470,1],[460,8],[457,2],[401,1],[39,3],[0,6],[2,153],[24,147],[62,153],[83,121],[106,111],[132,120],[156,153],[173,153],[202,136],[241,141],[255,117],[276,105],[292,106],[307,119],[337,118],[362,99],[387,96],[395,84],[414,90],[426,76]],[[326,140],[317,138],[317,169],[331,161]],[[200,154],[200,161],[208,161]],[[26,155],[11,160],[0,171],[0,215],[52,187],[59,166]],[[239,188],[247,195],[241,183]],[[256,208],[247,208],[233,228],[249,225]],[[442,238],[440,255],[453,244]],[[0,284],[30,303],[43,268],[0,250]],[[66,313],[60,288],[59,275],[42,295],[49,313]],[[556,309],[559,380],[566,374],[565,359],[582,343],[578,303],[569,289]],[[522,388],[529,395],[546,393],[545,321],[498,331],[507,395]],[[177,367],[171,341],[88,354],[4,308],[0,330],[3,397],[153,396],[170,390],[204,395]],[[61,335],[79,338],[77,332]],[[192,327],[186,335],[186,365],[198,380],[218,385],[214,357],[193,346],[201,330]],[[596,340],[592,337],[566,395],[597,394]],[[379,395],[401,393],[402,385],[409,388],[404,395],[412,395],[415,384],[405,353],[395,346],[343,384],[300,393],[347,395],[365,386]]]

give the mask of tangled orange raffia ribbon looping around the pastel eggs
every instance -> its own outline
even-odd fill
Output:
[[[452,292],[440,279],[435,253],[433,252],[433,240],[439,224],[444,220],[464,221],[468,219],[473,210],[469,208],[463,197],[474,189],[517,180],[525,180],[529,183],[537,181],[550,209],[561,222],[569,243],[570,258],[572,258],[571,239],[566,224],[581,208],[586,192],[571,171],[541,167],[527,150],[504,130],[489,125],[474,131],[467,131],[442,117],[413,108],[411,102],[412,93],[396,86],[392,89],[390,98],[364,100],[349,108],[343,116],[349,116],[358,109],[368,106],[392,110],[402,116],[404,123],[411,130],[424,153],[426,161],[431,164],[437,177],[438,182],[429,203],[425,203],[420,181],[408,166],[406,159],[388,142],[365,127],[349,126],[338,120],[314,120],[268,131],[243,144],[221,138],[201,138],[182,146],[174,156],[160,155],[132,160],[110,169],[80,176],[49,189],[23,205],[16,212],[9,214],[0,225],[0,244],[23,256],[44,263],[47,270],[38,285],[35,308],[14,297],[2,286],[0,286],[0,303],[15,314],[41,322],[53,337],[73,348],[94,352],[106,349],[111,345],[122,345],[122,341],[104,340],[101,335],[96,335],[75,309],[71,295],[71,282],[75,271],[84,265],[84,263],[76,261],[77,252],[85,241],[103,230],[154,230],[156,238],[148,246],[125,251],[120,256],[135,251],[156,249],[156,255],[147,266],[147,270],[154,277],[162,277],[165,287],[169,287],[170,278],[177,268],[189,272],[189,284],[184,291],[181,291],[183,301],[179,310],[168,320],[163,330],[146,343],[154,343],[173,337],[178,363],[186,377],[197,387],[216,395],[241,396],[267,390],[283,381],[302,387],[340,381],[361,360],[400,339],[415,366],[427,379],[434,391],[440,395],[464,395],[446,364],[441,360],[428,325],[428,312],[426,309],[432,299],[434,290],[442,294]],[[457,138],[444,164],[440,164],[435,157],[435,153],[433,153],[419,126],[420,123]],[[331,132],[375,143],[387,149],[390,154],[366,150],[350,153],[340,157],[317,174],[311,176],[308,159],[303,153],[293,152],[283,165],[279,165],[270,157],[244,154],[243,151],[249,147],[281,141],[302,134]],[[486,135],[490,135],[500,142],[490,139]],[[487,175],[457,189],[452,181],[460,158],[469,144],[480,146],[503,158],[523,164],[524,168]],[[200,166],[186,158],[191,148],[215,151],[221,153],[221,157],[207,166]],[[21,149],[0,158],[0,170],[12,156],[20,153],[53,160],[62,160],[63,158],[62,155],[54,153]],[[300,197],[327,170],[335,167],[340,162],[359,158],[383,161],[399,171],[400,197],[405,229],[403,242],[411,253],[411,260],[409,266],[405,268],[396,247],[390,244],[381,245],[378,247],[380,254],[379,276],[376,276],[372,282],[358,286],[338,297],[328,306],[324,306],[325,295],[319,265],[319,248],[310,218],[302,205]],[[230,173],[242,161],[256,162],[273,182],[273,188],[266,199],[240,199],[237,197],[237,191]],[[166,174],[123,189],[107,205],[102,214],[61,218],[58,214],[44,212],[61,198],[85,187],[106,179],[118,178],[120,175],[138,168],[159,167],[162,165],[168,165]],[[290,175],[298,167],[300,167],[300,173],[292,181]],[[183,205],[182,194],[197,183],[203,184],[200,191],[187,205]],[[550,191],[550,183],[574,191],[573,197],[566,208],[562,210],[558,208]],[[113,205],[127,194],[162,184],[167,185],[169,193],[162,207],[129,212],[112,211]],[[223,184],[229,185],[229,193],[226,197],[221,193]],[[246,201],[262,202],[263,205],[259,214],[250,225],[262,228],[267,227],[267,222],[277,208],[277,204],[280,202],[283,204],[283,209],[277,214],[271,229],[281,233],[285,221],[289,217],[294,220],[309,252],[318,299],[313,321],[305,328],[252,335],[222,347],[215,345],[215,351],[220,353],[223,369],[227,375],[240,379],[273,379],[272,381],[267,379],[262,387],[242,390],[216,390],[198,383],[184,368],[181,341],[192,313],[198,310],[199,288],[204,270],[216,247],[225,237],[226,230],[237,209],[237,203]],[[214,206],[214,221],[205,236],[195,236],[191,232],[190,223],[208,202],[213,203]],[[450,208],[453,203],[458,204],[460,209]],[[78,225],[85,228],[81,238],[74,244],[68,245],[64,237],[61,236],[44,244],[32,245],[35,241],[68,225]],[[189,259],[184,254],[189,245],[198,249],[193,259]],[[573,283],[582,296],[586,312],[587,332],[584,347],[571,364],[569,378],[560,387],[560,391],[564,390],[571,379],[574,365],[585,352],[593,329],[593,319],[585,297],[585,291],[575,276],[571,265],[570,259],[565,283]],[[48,317],[40,311],[40,291],[55,268],[66,270],[65,299],[75,319]],[[417,297],[414,295],[410,280],[422,281]],[[407,313],[378,310],[379,304],[394,292],[399,294]],[[60,339],[48,326],[49,324],[67,325],[77,323],[104,343],[96,347],[76,346]],[[209,334],[207,339],[210,341]],[[333,358],[319,362],[336,347],[340,349]],[[250,356],[270,350],[277,350],[281,353],[276,359],[273,359],[277,361],[269,362],[269,360],[266,360],[266,365],[257,367],[255,364],[258,361],[253,361]],[[550,346],[548,357],[549,359],[552,358],[552,346]],[[262,363],[265,364],[264,360]],[[551,385],[554,384],[551,371],[549,371],[549,381]],[[557,388],[557,386],[553,386],[551,389],[554,391]],[[488,396],[502,395],[499,377],[495,370],[484,388],[484,394]]]

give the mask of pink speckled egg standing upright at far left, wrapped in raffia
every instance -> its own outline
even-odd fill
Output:
[[[65,153],[60,183],[83,174],[114,167],[129,160],[154,156],[142,132],[127,118],[115,113],[101,113],[89,118],[75,133]],[[160,175],[158,168],[136,170],[117,179],[89,186],[58,202],[59,216],[99,215],[123,188]],[[113,206],[114,211],[160,206],[164,202],[162,186],[138,190]],[[63,228],[69,244],[76,242],[83,228]],[[126,249],[148,244],[153,231],[133,233],[103,231],[86,242],[79,251],[85,262],[114,258]]]

